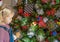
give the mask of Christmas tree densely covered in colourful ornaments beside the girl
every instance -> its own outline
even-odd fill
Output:
[[[14,9],[18,42],[60,42],[60,0],[21,0]]]

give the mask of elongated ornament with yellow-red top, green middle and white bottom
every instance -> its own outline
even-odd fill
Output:
[[[27,35],[29,36],[29,38],[32,38],[35,35],[37,28],[38,28],[37,22],[32,22],[32,24],[29,27],[29,30],[27,32]]]

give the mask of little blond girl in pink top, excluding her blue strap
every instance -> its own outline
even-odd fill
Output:
[[[7,27],[10,29],[8,25],[12,21],[12,17],[14,16],[14,12],[11,9],[4,8],[0,10],[0,26]],[[10,42],[9,32],[0,27],[0,42]]]

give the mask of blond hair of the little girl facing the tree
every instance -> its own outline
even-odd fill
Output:
[[[0,10],[0,23],[3,23],[5,20],[5,17],[8,17],[9,15],[14,15],[14,10],[12,8],[4,7]]]

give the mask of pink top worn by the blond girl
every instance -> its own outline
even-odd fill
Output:
[[[0,25],[0,26],[5,26],[8,29],[10,28],[9,25]],[[9,38],[10,38],[9,33],[0,27],[0,42],[10,42]]]

